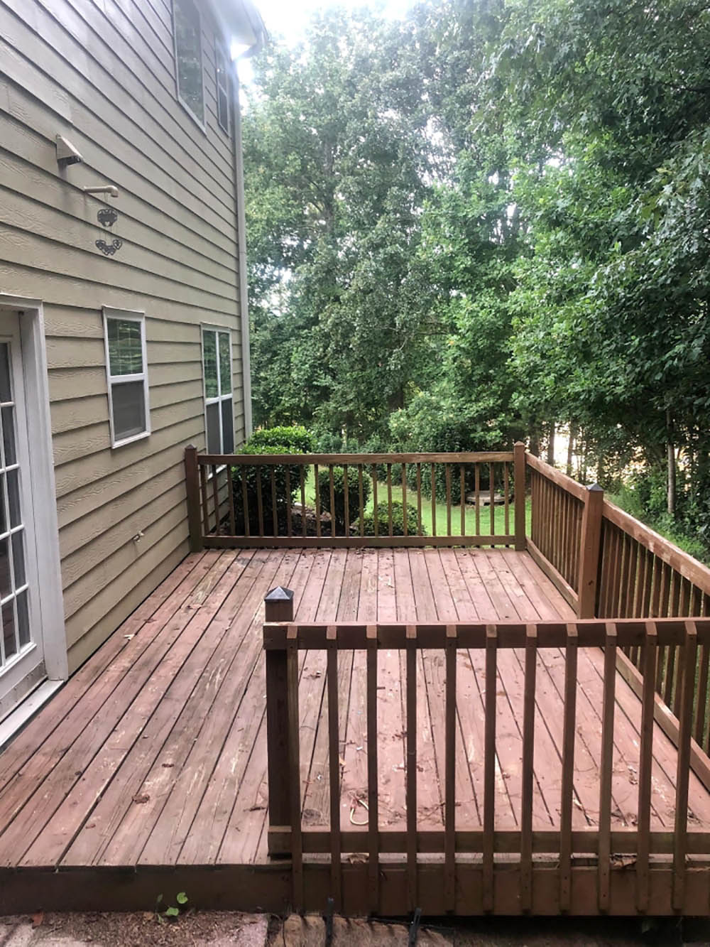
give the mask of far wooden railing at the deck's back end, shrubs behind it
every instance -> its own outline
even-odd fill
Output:
[[[514,452],[260,456],[188,447],[185,461],[193,551],[236,545],[524,549],[524,502],[514,503],[512,492],[515,486],[524,499],[523,444]]]

